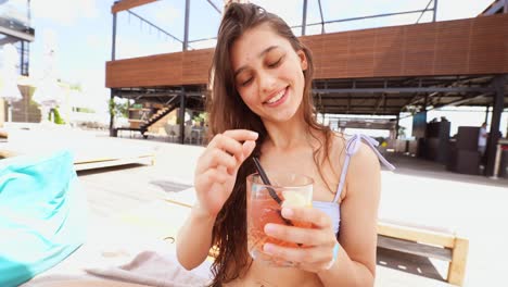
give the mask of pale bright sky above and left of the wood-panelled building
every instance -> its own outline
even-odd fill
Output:
[[[221,8],[223,0],[212,0]],[[437,21],[474,17],[493,0],[439,0]],[[105,110],[109,89],[105,86],[105,62],[112,57],[111,7],[113,0],[31,0],[31,26],[36,39],[30,43],[30,76],[41,77],[45,47],[52,46],[54,70],[59,78],[79,84],[90,108]],[[183,38],[185,0],[161,0],[131,11],[149,20],[178,39]],[[291,26],[302,22],[303,0],[255,0],[270,12],[279,14]],[[307,23],[320,22],[317,0],[308,0]],[[325,20],[360,17],[374,14],[422,10],[429,0],[321,0]],[[433,3],[430,4],[432,7]],[[116,59],[181,51],[181,43],[142,24],[127,12],[117,14]],[[329,24],[327,33],[414,24],[420,14]],[[427,12],[421,22],[429,22]],[[191,0],[190,40],[213,38],[220,15],[206,0]],[[319,34],[321,27],[307,27],[306,34]],[[301,28],[294,29],[300,35]],[[192,48],[213,47],[214,40],[190,43]]]

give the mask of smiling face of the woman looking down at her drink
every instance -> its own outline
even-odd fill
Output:
[[[234,84],[242,100],[263,121],[285,122],[302,103],[305,53],[268,24],[245,32],[231,47]]]

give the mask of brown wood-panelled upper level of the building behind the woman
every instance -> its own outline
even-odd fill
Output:
[[[149,2],[119,1],[112,12]],[[417,12],[431,11],[429,4]],[[322,18],[321,24],[332,22]],[[315,55],[313,95],[320,113],[396,115],[426,107],[493,105],[492,79],[508,73],[508,14],[302,40]],[[212,55],[213,49],[201,49],[111,61],[106,86],[118,97],[163,103],[182,90],[206,96]]]

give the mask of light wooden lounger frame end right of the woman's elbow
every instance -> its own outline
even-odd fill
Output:
[[[448,261],[446,280],[462,286],[469,240],[455,233],[394,221],[378,222],[378,247]]]

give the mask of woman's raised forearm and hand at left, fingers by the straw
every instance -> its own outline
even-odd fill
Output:
[[[177,258],[187,270],[200,265],[212,247],[215,217],[231,195],[237,173],[255,148],[257,133],[234,129],[216,135],[198,160],[196,203],[177,236]]]

